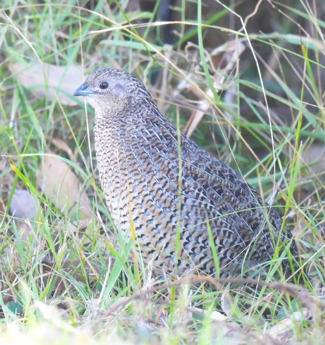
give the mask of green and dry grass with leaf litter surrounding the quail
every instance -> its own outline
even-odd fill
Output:
[[[324,30],[322,0],[2,0],[0,342],[324,344]],[[71,96],[103,67],[275,199],[308,277],[211,292],[133,269]]]

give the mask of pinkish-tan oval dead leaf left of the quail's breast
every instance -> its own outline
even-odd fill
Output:
[[[93,216],[92,205],[66,162],[55,155],[46,156],[38,169],[37,185],[59,210],[87,226]]]

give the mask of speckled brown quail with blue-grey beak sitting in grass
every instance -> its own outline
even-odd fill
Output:
[[[298,251],[280,216],[192,140],[180,134],[179,145],[177,129],[140,80],[102,69],[74,96],[87,96],[95,109],[95,151],[107,205],[122,231],[130,229],[132,215],[146,262],[152,260],[158,272],[252,277],[276,258],[288,275],[288,252]]]

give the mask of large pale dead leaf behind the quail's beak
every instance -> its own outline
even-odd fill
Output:
[[[38,99],[55,100],[61,104],[74,106],[77,101],[72,97],[74,90],[83,83],[83,71],[78,66],[55,66],[39,62],[23,65],[19,62],[9,65],[12,73],[23,87]]]

